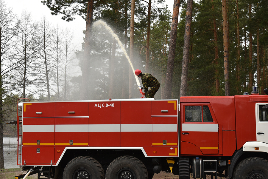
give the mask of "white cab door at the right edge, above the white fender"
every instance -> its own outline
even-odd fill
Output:
[[[268,108],[267,104],[256,104],[256,135],[258,142],[268,143]]]

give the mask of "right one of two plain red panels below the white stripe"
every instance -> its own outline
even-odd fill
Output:
[[[121,132],[121,146],[152,146],[152,132]]]

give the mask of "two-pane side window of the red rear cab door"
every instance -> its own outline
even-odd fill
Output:
[[[213,122],[208,106],[185,106],[186,122]]]

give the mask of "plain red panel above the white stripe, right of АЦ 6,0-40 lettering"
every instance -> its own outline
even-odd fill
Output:
[[[121,124],[152,124],[152,101],[121,101]]]

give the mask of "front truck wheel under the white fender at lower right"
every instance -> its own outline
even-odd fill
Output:
[[[268,161],[251,157],[242,160],[233,172],[234,179],[268,179]]]

